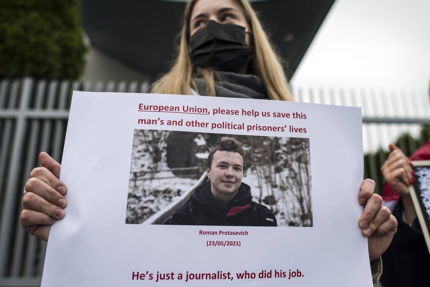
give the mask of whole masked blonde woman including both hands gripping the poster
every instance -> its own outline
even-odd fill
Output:
[[[246,0],[191,0],[184,15],[176,63],[155,82],[154,93],[293,100],[279,57]],[[48,239],[50,226],[64,218],[66,185],[61,165],[46,153],[24,190],[20,220],[30,234]],[[359,226],[368,237],[377,282],[379,257],[390,244],[397,221],[375,184],[364,180],[358,201],[364,206]],[[331,191],[332,193],[337,191]],[[328,194],[332,196],[332,194]]]

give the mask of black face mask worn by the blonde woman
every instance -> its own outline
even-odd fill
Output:
[[[245,28],[211,20],[191,36],[188,54],[191,62],[200,67],[238,72],[249,60]]]

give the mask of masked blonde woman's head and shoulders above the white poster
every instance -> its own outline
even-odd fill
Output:
[[[245,0],[189,1],[179,55],[153,92],[293,100],[281,60]]]

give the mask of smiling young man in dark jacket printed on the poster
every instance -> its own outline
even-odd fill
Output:
[[[199,186],[170,224],[276,226],[272,211],[252,201],[251,188],[242,183],[242,144],[222,137],[210,149],[206,165],[209,182]]]

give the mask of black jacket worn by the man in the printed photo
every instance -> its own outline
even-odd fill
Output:
[[[199,186],[191,200],[170,219],[170,224],[276,226],[273,213],[252,201],[251,188],[242,183],[232,201],[222,206],[212,195],[210,182]]]

